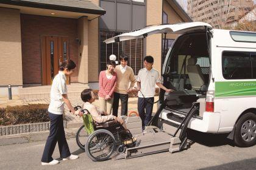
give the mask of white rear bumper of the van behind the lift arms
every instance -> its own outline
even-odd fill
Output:
[[[180,124],[179,122],[171,120],[167,117],[169,112],[169,110],[163,109],[159,117],[163,120],[170,121],[175,124]],[[200,132],[216,134],[219,131],[220,120],[221,115],[218,112],[204,112],[202,118],[193,117],[188,124],[188,128]]]

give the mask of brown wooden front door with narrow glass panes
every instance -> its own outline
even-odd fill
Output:
[[[69,59],[68,36],[41,36],[41,54],[42,85],[50,85],[62,62]]]

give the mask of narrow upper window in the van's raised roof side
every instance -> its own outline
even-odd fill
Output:
[[[233,41],[240,42],[256,42],[256,33],[252,32],[230,32],[230,36]]]

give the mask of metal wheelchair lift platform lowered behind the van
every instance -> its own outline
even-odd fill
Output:
[[[199,103],[193,103],[190,112],[183,118],[179,126],[163,123],[162,130],[156,126],[148,126],[144,134],[135,135],[137,137],[135,147],[127,148],[123,154],[116,155],[114,159],[140,157],[164,151],[173,153],[186,149],[188,144],[188,123],[190,123],[191,118],[196,114],[197,109],[199,109]]]

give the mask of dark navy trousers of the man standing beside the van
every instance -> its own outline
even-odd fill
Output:
[[[149,103],[146,100],[150,101],[151,103]],[[153,103],[154,103],[154,97],[149,97],[149,98],[138,97],[138,112],[142,121],[143,130],[151,120],[151,115],[152,115],[152,110],[154,105]]]

